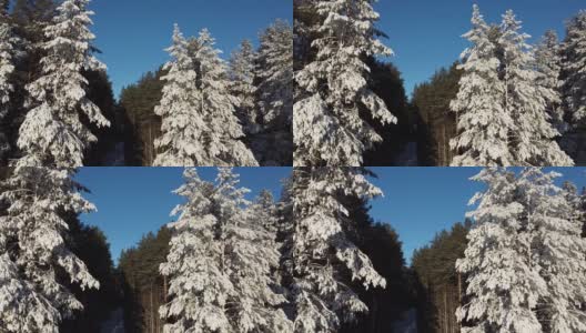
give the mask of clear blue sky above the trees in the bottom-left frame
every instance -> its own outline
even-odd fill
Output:
[[[215,179],[215,168],[198,168],[198,171],[203,179]],[[234,171],[241,175],[241,185],[252,191],[250,200],[263,189],[279,199],[281,181],[291,174],[291,168],[235,168]],[[181,196],[171,193],[183,183],[182,168],[82,168],[77,180],[91,191],[84,196],[98,208],[98,212],[83,214],[81,220],[105,233],[117,262],[121,250],[171,222],[171,210],[182,202]]]

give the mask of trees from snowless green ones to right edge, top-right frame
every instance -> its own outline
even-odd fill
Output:
[[[531,50],[512,11],[496,26],[484,22],[478,9],[475,10],[474,28],[465,34],[473,41],[473,48],[462,62],[440,70],[414,90],[413,108],[421,120],[420,163],[451,165],[468,159],[464,163],[477,164],[474,161],[484,157],[487,160],[482,165],[491,161],[501,165],[562,165],[570,162],[569,155],[575,163],[583,164],[579,110],[584,103],[580,94],[584,80],[578,68],[586,57],[576,46],[584,42],[584,12],[568,21],[563,41],[548,31]],[[516,69],[519,71],[515,72]],[[487,89],[474,84],[485,84]],[[472,89],[473,85],[477,89]],[[458,95],[474,91],[477,95]],[[522,100],[523,95],[532,98]],[[467,107],[481,99],[483,108],[494,110]],[[539,112],[523,111],[529,109]],[[518,114],[509,117],[515,112]],[[485,119],[483,114],[494,119],[479,124],[475,120]],[[523,121],[525,115],[532,120]],[[493,134],[483,139],[478,127]]]

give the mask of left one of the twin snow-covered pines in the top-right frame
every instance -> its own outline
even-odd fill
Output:
[[[508,134],[514,121],[503,108],[505,87],[498,78],[499,60],[491,41],[491,28],[474,4],[472,30],[464,34],[472,47],[462,53],[459,90],[449,108],[456,112],[457,137],[449,145],[453,167],[513,165]]]

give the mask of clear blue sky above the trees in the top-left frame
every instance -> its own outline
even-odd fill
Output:
[[[208,28],[228,57],[243,39],[257,42],[259,32],[275,19],[293,21],[292,0],[93,0],[90,9],[99,59],[118,95],[124,85],[155,70],[169,58],[173,24],[185,36]]]

